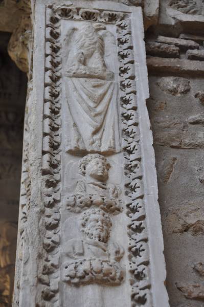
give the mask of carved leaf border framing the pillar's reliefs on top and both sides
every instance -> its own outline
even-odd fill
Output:
[[[59,305],[60,145],[61,145],[61,19],[98,21],[117,26],[119,88],[124,150],[126,214],[129,217],[129,271],[132,307],[151,306],[149,248],[141,167],[131,14],[77,7],[47,7],[43,157],[46,258],[39,274],[44,305]],[[46,303],[46,301],[49,301]],[[38,306],[43,305],[39,302]],[[43,305],[43,306],[44,306]]]

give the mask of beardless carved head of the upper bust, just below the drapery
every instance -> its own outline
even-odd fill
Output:
[[[105,182],[108,179],[110,164],[108,160],[98,153],[90,153],[79,161],[79,172],[87,179]]]

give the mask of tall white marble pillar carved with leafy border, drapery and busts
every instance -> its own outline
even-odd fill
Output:
[[[168,307],[142,8],[33,12],[13,307]]]

